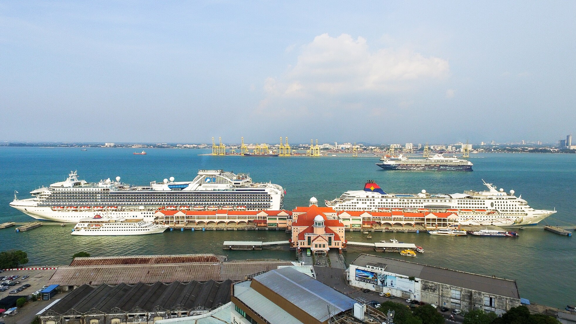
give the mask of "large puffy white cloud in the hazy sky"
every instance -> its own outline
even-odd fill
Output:
[[[267,79],[264,90],[269,96],[400,92],[449,72],[444,59],[404,48],[372,50],[363,37],[353,39],[347,34],[316,36],[301,48],[297,63],[274,80],[274,87]]]

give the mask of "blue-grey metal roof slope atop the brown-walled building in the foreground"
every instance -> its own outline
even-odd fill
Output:
[[[350,297],[290,267],[272,270],[254,279],[320,322],[354,307]]]

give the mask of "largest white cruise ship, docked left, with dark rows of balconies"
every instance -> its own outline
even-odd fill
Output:
[[[78,180],[71,171],[66,181],[30,192],[29,199],[17,199],[10,206],[40,220],[78,223],[96,215],[105,218],[154,220],[154,212],[164,209],[280,210],[285,190],[270,182],[252,182],[248,174],[223,170],[200,170],[192,181],[173,177],[148,186],[116,181]]]

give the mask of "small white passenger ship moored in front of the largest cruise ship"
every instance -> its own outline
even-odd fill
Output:
[[[72,235],[144,235],[161,233],[168,227],[142,219],[103,218],[96,215],[93,218],[81,219],[74,226]]]

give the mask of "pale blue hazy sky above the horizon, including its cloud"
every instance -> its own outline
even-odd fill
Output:
[[[0,1],[0,140],[574,132],[576,2]]]

